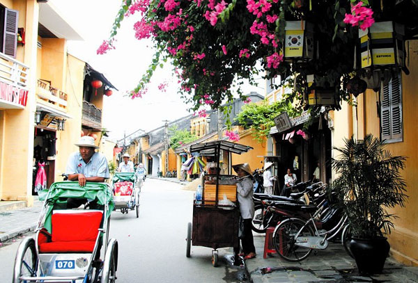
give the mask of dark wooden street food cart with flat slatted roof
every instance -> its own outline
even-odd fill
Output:
[[[199,143],[190,147],[190,153],[198,152],[201,156],[212,156],[219,168],[219,156],[224,152],[228,159],[228,175],[203,175],[202,200],[193,203],[193,220],[187,224],[186,257],[190,257],[191,245],[212,248],[212,265],[217,266],[218,248],[239,248],[238,227],[240,209],[237,200],[236,185],[223,185],[223,180],[233,179],[231,175],[231,154],[248,152],[252,147],[217,140]],[[212,180],[212,181],[209,181]],[[219,182],[221,181],[221,182]],[[215,184],[208,184],[208,183]],[[224,204],[221,200],[229,200]],[[219,202],[221,201],[221,202]]]

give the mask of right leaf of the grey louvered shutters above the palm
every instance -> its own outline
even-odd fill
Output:
[[[391,121],[392,139],[402,138],[402,97],[401,75],[394,77],[391,83]]]

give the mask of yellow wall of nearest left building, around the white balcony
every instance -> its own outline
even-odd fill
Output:
[[[25,28],[26,44],[20,45],[17,60],[31,67],[29,70],[29,92],[23,110],[3,111],[3,143],[0,163],[1,200],[26,200],[33,204],[32,190],[32,150],[33,124],[36,89],[36,46],[38,40],[39,8],[35,0],[1,1],[8,8],[19,10],[19,26]],[[7,167],[5,166],[7,164]],[[14,168],[13,170],[11,168]],[[18,168],[18,170],[15,170]]]

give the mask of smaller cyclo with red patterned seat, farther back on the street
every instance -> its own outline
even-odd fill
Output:
[[[135,210],[139,217],[140,182],[134,172],[118,172],[112,178],[114,210],[120,209],[122,213]]]

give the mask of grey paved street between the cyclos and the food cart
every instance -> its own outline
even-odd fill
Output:
[[[111,237],[119,242],[119,283],[132,282],[240,282],[242,268],[224,260],[229,249],[219,250],[219,267],[211,264],[210,248],[192,247],[185,256],[187,223],[192,220],[193,192],[180,184],[147,179],[141,192],[140,216],[114,212]],[[20,238],[0,248],[1,283],[10,283]]]

